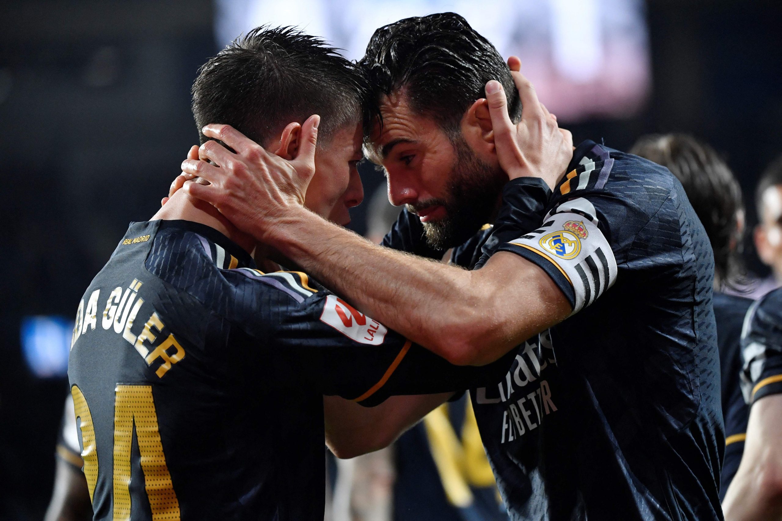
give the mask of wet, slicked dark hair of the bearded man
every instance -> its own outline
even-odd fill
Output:
[[[486,97],[490,80],[500,81],[505,89],[511,120],[521,118],[522,104],[508,65],[456,13],[414,16],[380,27],[358,64],[370,89],[367,122],[379,118],[382,95],[404,91],[413,110],[453,135],[465,110]],[[365,124],[364,131],[370,127]]]

